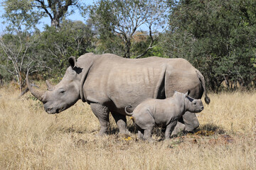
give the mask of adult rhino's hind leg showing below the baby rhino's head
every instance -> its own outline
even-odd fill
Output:
[[[196,113],[191,113],[187,111],[183,116],[183,122],[186,126],[185,130],[188,132],[193,132],[199,126],[198,118],[196,117]]]

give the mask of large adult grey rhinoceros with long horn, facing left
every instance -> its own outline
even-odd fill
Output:
[[[174,91],[201,98],[205,91],[203,75],[184,59],[147,57],[126,59],[117,55],[94,55],[87,53],[75,60],[68,59],[70,67],[65,76],[55,86],[48,84],[47,91],[33,89],[26,77],[31,94],[43,102],[47,113],[60,113],[73,106],[79,99],[90,104],[92,112],[100,120],[100,132],[104,135],[112,113],[120,133],[127,133],[124,108],[132,106],[133,111],[146,98],[167,98]],[[195,113],[185,113],[181,123],[186,130],[198,127]]]

